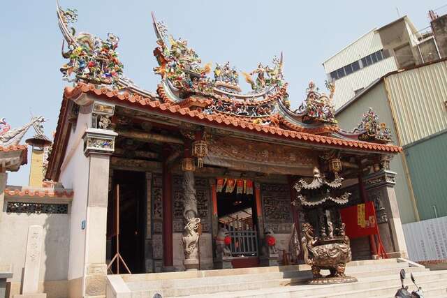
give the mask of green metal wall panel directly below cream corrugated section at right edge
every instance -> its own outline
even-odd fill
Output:
[[[447,216],[447,131],[404,148],[421,220]]]

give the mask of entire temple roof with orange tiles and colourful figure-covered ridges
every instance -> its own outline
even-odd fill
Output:
[[[54,155],[61,155],[65,150],[68,101],[80,104],[78,98],[82,94],[166,119],[227,128],[247,135],[263,135],[332,149],[382,154],[402,151],[401,147],[387,144],[391,141],[390,131],[384,124],[379,124],[372,110],[364,115],[353,131],[339,128],[332,105],[335,86],[328,82],[328,94],[309,82],[306,98],[298,109],[293,110],[287,93],[288,84],[282,73],[282,53],[279,58],[272,59],[270,66],[259,63],[254,70],[247,72],[230,66],[230,62],[216,64],[214,77],[210,77],[208,73],[212,65],[202,65],[200,57],[187,41],[168,34],[166,24],[157,22],[152,14],[157,44],[154,56],[159,64],[154,73],[161,76],[156,91],[152,92],[138,87],[124,76],[124,65],[117,52],[117,36],[108,33],[107,39],[103,40],[91,33],[76,34],[71,27],[78,17],[76,10],[62,10],[58,5],[57,17],[67,43],[66,47],[63,43],[62,56],[68,61],[61,67],[61,72],[64,80],[74,84],[64,91],[49,168],[60,163],[54,161]],[[240,74],[251,91],[242,92]]]

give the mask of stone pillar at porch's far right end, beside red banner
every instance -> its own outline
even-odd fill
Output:
[[[382,167],[381,170],[365,177],[365,188],[368,200],[380,202],[384,208],[380,210],[381,214],[386,214],[387,219],[381,218],[378,223],[381,240],[388,258],[408,258],[404,230],[394,191],[395,176],[395,172]]]

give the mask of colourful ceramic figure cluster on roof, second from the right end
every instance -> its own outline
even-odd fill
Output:
[[[303,114],[303,122],[312,123],[314,121],[321,121],[337,124],[337,120],[335,120],[334,105],[332,105],[332,97],[334,96],[335,87],[328,82],[326,82],[326,87],[330,91],[329,96],[320,93],[318,88],[315,87],[314,82],[309,82],[309,87],[306,90],[307,98],[297,110]]]

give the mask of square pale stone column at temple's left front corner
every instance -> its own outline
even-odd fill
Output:
[[[88,128],[83,137],[89,158],[83,297],[105,297],[109,162],[116,136],[110,130]]]

